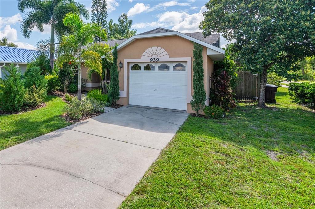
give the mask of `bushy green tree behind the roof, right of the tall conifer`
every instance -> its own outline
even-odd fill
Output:
[[[135,29],[131,29],[132,20],[128,19],[127,14],[121,14],[119,16],[118,22],[114,23],[113,19],[108,22],[108,38],[113,39],[123,39],[130,38],[134,36],[137,32]]]

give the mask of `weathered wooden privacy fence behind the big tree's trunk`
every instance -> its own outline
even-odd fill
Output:
[[[238,71],[239,84],[235,88],[235,99],[256,101],[259,96],[259,75],[249,71]]]

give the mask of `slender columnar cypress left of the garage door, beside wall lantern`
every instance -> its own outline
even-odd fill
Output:
[[[116,105],[116,102],[119,99],[119,71],[117,66],[117,45],[115,46],[113,51],[113,64],[110,71],[108,98],[109,101],[114,105]]]

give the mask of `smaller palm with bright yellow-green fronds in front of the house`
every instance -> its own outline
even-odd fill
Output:
[[[95,35],[106,39],[106,31],[94,23],[84,23],[76,13],[66,14],[63,23],[68,26],[71,33],[64,35],[57,51],[57,65],[70,63],[77,66],[78,71],[78,91],[77,98],[81,100],[81,67],[84,65],[90,70],[101,74],[102,62],[100,55],[91,48],[84,46],[93,42]]]

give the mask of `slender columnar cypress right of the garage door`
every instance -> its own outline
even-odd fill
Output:
[[[203,84],[203,57],[202,57],[202,46],[198,43],[194,43],[193,50],[193,84],[192,88],[194,93],[192,95],[192,110],[196,111],[196,116],[199,115],[199,110],[203,110],[204,102],[206,101],[206,92]]]

